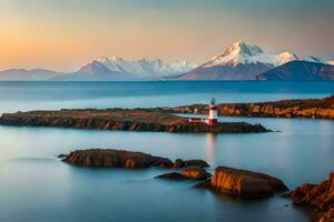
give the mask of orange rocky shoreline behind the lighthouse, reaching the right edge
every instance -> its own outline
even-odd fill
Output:
[[[222,103],[219,115],[255,118],[318,118],[334,119],[334,95],[323,99],[281,100],[274,102]],[[177,108],[159,108],[161,112],[208,113],[208,105],[193,104]]]

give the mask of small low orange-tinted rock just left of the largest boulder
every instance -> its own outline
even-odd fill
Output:
[[[158,175],[156,178],[173,179],[173,180],[206,180],[212,174],[208,173],[202,167],[190,167],[183,170],[180,173],[170,172],[170,173]]]

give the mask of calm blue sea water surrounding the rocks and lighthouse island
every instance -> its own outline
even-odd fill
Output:
[[[0,113],[61,108],[135,108],[320,98],[334,82],[0,82]],[[281,196],[245,201],[153,179],[166,170],[91,170],[59,153],[87,148],[262,171],[291,188],[334,170],[334,121],[222,118],[279,132],[187,134],[0,127],[0,221],[308,221]],[[288,204],[286,206],[286,204]]]

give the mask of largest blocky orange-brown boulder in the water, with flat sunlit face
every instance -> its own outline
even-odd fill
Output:
[[[213,179],[197,184],[197,188],[242,198],[265,198],[287,190],[281,180],[271,175],[226,167],[216,168]]]

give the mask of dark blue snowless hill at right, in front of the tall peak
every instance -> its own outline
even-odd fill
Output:
[[[291,61],[258,74],[256,79],[274,81],[334,80],[334,65],[307,61]]]

